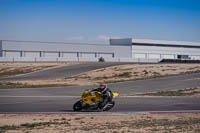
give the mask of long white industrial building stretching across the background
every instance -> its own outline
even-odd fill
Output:
[[[200,42],[110,39],[109,45],[0,40],[0,61],[159,62],[200,60]]]

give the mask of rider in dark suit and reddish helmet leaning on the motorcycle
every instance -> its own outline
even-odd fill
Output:
[[[99,91],[102,93],[103,101],[100,103],[100,109],[102,109],[107,102],[111,102],[113,95],[111,90],[107,87],[107,84],[102,83],[100,86],[93,91]]]

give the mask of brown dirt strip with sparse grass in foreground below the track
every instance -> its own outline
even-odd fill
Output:
[[[173,114],[1,114],[6,133],[199,133],[200,113]]]

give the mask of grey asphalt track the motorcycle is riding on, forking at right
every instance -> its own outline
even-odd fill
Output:
[[[120,94],[110,112],[200,110],[200,97],[126,97],[133,93],[200,86],[200,73],[108,85]],[[72,112],[84,89],[95,86],[0,90],[0,112]]]

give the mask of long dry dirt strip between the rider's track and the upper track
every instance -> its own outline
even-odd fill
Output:
[[[73,78],[41,81],[20,81],[26,85],[98,85],[168,75],[200,72],[200,64],[129,64],[89,71]]]

